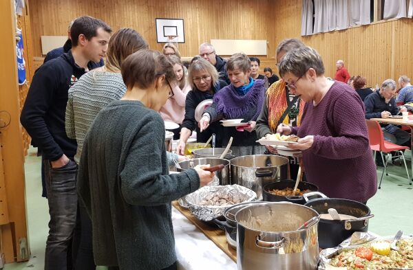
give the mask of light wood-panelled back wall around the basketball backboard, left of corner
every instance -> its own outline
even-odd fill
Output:
[[[218,39],[267,39],[271,0],[29,0],[34,36],[34,56],[41,56],[42,35],[65,35],[67,25],[88,14],[102,19],[114,30],[133,27],[149,42],[156,43],[156,18],[184,19],[182,56],[195,56],[201,43]]]

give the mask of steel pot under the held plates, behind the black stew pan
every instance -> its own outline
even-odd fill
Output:
[[[262,187],[266,183],[288,179],[289,163],[277,155],[249,155],[231,159],[231,183],[243,185],[257,193],[262,200]]]

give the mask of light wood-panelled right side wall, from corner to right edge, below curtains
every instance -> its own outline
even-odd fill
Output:
[[[301,37],[301,1],[274,2],[271,12],[277,14],[277,19],[270,33],[275,36],[273,43],[297,37],[314,47],[324,60],[326,76],[334,77],[335,63],[342,59],[350,75],[366,77],[368,86],[381,85],[387,78],[397,81],[401,75],[413,79],[412,19],[388,20]]]

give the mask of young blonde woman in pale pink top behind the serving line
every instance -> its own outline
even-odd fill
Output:
[[[185,99],[191,87],[187,83],[187,78],[184,75],[184,66],[178,56],[171,55],[169,60],[173,65],[173,72],[176,76],[176,84],[172,86],[171,98],[167,100],[162,108],[160,108],[160,116],[165,121],[171,121],[181,125],[185,115]],[[173,139],[179,139],[180,127],[172,131]]]

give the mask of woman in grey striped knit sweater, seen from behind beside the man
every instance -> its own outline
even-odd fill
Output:
[[[80,162],[83,140],[98,112],[126,92],[120,66],[127,56],[140,49],[147,49],[147,42],[131,28],[118,30],[109,40],[105,66],[89,71],[69,89],[65,127],[67,137],[76,139],[74,156]],[[79,204],[81,236],[76,258],[76,269],[95,269],[92,254],[92,224],[83,205]],[[78,236],[77,236],[78,237]],[[76,235],[74,236],[76,240]],[[76,253],[76,251],[75,251]]]

